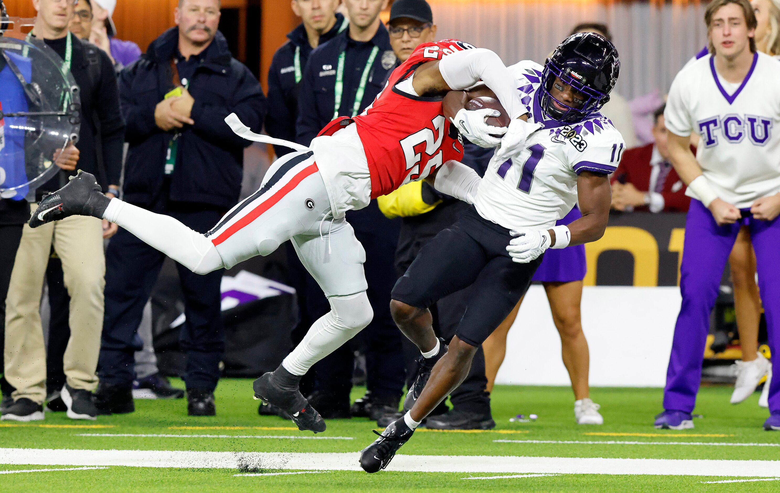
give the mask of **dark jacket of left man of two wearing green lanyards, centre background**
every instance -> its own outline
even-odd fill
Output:
[[[320,44],[330,41],[339,31],[346,29],[344,16],[337,13],[332,29],[320,36]],[[300,69],[306,67],[312,49],[303,24],[287,34],[287,41],[276,50],[271,68],[268,69],[268,117],[265,119],[265,131],[277,139],[295,142],[295,122],[298,118],[298,87],[295,74],[295,52],[300,48]],[[274,146],[276,155],[281,157],[293,152],[289,147]]]

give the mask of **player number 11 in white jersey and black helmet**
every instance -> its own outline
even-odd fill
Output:
[[[396,324],[424,357],[438,361],[421,365],[432,369],[421,370],[406,395],[408,412],[363,450],[363,470],[384,469],[415,427],[466,378],[477,347],[526,293],[544,250],[604,234],[612,198],[608,174],[625,144],[598,110],[609,100],[619,68],[615,47],[595,33],[567,37],[544,67],[527,61],[509,68],[537,130],[521,151],[494,156],[483,179],[464,170],[459,190],[465,193],[458,197],[474,207],[420,250],[395,284],[390,307]],[[492,129],[484,123],[490,111],[461,109],[453,122],[469,140],[491,144]],[[583,217],[556,226],[578,199]],[[445,352],[428,307],[468,286],[466,314]]]

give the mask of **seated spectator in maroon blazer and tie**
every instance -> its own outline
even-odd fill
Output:
[[[669,161],[666,105],[653,113],[655,144],[623,152],[612,175],[612,208],[616,211],[685,212],[690,197],[686,186]]]

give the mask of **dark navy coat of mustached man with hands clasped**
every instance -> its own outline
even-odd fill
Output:
[[[119,76],[129,143],[124,183],[129,202],[150,205],[163,188],[165,154],[174,133],[158,128],[154,108],[173,89],[171,59],[178,48],[179,28],[172,27]],[[169,198],[232,207],[241,190],[243,149],[250,142],[233,133],[225,117],[235,112],[246,126],[260,132],[267,103],[257,79],[230,55],[222,33],[217,32],[199,56],[189,89],[195,99],[191,114],[195,124],[185,126],[179,137]]]

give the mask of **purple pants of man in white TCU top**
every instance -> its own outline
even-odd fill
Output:
[[[756,252],[758,289],[766,312],[769,348],[772,356],[780,355],[780,218],[758,221],[749,217],[737,224],[718,226],[704,204],[691,200],[680,266],[683,305],[677,316],[666,372],[665,410],[691,413],[696,405],[710,314],[718,297],[723,268],[742,225],[750,227]],[[772,359],[780,361],[778,356]],[[780,413],[780,378],[772,379],[769,410]]]

